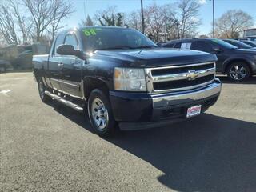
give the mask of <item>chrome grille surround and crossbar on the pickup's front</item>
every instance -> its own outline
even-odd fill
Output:
[[[214,62],[214,68],[208,68],[205,70],[194,70],[195,72],[198,72],[198,77],[203,77],[206,75],[214,74],[214,78],[209,82],[204,82],[202,84],[198,84],[196,86],[186,86],[182,88],[177,89],[167,89],[167,90],[154,90],[153,83],[154,82],[168,82],[168,81],[175,81],[175,80],[182,80],[186,79],[186,75],[188,73],[180,73],[180,74],[168,74],[168,75],[159,75],[159,76],[153,76],[152,70],[162,70],[162,69],[174,69],[174,68],[183,68],[183,67],[190,67],[190,66],[204,66],[207,64],[212,64],[213,62],[202,62],[202,63],[196,63],[196,64],[190,64],[190,65],[182,65],[182,66],[162,66],[162,67],[154,67],[154,68],[146,68],[145,74],[146,74],[146,86],[147,90],[150,94],[159,94],[164,92],[174,92],[174,91],[180,91],[180,90],[191,90],[195,89],[201,86],[206,86],[212,82],[214,82],[215,78],[215,69],[216,69],[216,63]]]

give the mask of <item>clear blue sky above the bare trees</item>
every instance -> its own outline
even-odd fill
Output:
[[[163,5],[177,1],[143,0],[143,4],[144,6],[149,6],[155,2],[157,5]],[[202,3],[200,9],[202,26],[199,28],[199,32],[200,34],[209,34],[211,30],[210,23],[212,22],[212,0],[198,0],[198,2]],[[70,0],[70,3],[74,6],[76,12],[70,18],[66,19],[66,21],[63,21],[63,23],[67,24],[66,28],[78,26],[78,22],[85,18],[85,11],[86,14],[93,17],[97,10],[104,10],[108,6],[117,6],[117,10],[124,13],[140,9],[140,0]],[[246,11],[254,17],[256,26],[256,0],[215,0],[215,18],[220,17],[227,10],[232,9]]]

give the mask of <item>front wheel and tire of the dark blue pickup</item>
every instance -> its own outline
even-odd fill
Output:
[[[116,122],[109,98],[103,90],[95,89],[90,93],[87,107],[94,132],[103,137],[114,134]]]

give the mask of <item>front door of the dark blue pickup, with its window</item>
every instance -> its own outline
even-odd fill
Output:
[[[66,34],[64,44],[74,46],[75,50],[79,50],[78,38],[72,32]],[[61,65],[59,83],[62,92],[79,98],[82,97],[82,59],[74,55],[62,55],[58,63]]]

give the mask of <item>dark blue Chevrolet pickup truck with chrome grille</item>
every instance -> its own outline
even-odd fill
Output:
[[[158,47],[137,30],[95,26],[58,34],[34,55],[42,102],[87,110],[94,131],[110,134],[194,117],[217,101],[214,54]]]

